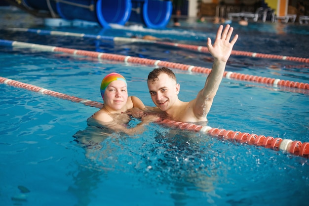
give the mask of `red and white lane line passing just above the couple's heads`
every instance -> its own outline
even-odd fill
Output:
[[[20,41],[0,40],[0,45],[13,46],[13,47],[15,46],[15,47],[22,47],[22,48],[32,48],[32,49],[37,49],[40,51],[47,51],[47,52],[62,52],[62,53],[68,53],[68,54],[73,54],[73,55],[89,56],[89,57],[98,58],[98,59],[114,60],[114,61],[119,61],[119,62],[124,62],[124,63],[149,65],[149,66],[155,66],[155,67],[168,67],[171,69],[180,69],[184,71],[202,73],[202,74],[209,74],[211,72],[211,69],[209,68],[197,67],[197,66],[187,65],[187,64],[173,63],[173,62],[154,60],[154,59],[146,59],[146,58],[140,58],[140,57],[124,56],[124,55],[119,55],[119,54],[102,53],[102,52],[97,52],[97,51],[86,51],[86,50],[71,49],[71,48],[58,47],[58,46],[27,43],[27,42],[20,42]],[[227,72],[227,71],[224,72],[223,77],[227,79],[238,80],[238,81],[264,83],[264,84],[273,85],[273,86],[285,86],[285,87],[309,90],[309,83],[303,83],[303,82],[293,82],[293,81],[288,81],[288,80],[280,80],[280,79],[274,79],[274,78],[245,75],[245,74]],[[293,92],[301,93],[301,91],[293,91]]]

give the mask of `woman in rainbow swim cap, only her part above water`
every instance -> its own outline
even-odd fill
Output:
[[[146,115],[143,112],[146,107],[138,97],[128,96],[127,82],[118,73],[108,74],[102,80],[101,95],[104,104],[102,109],[94,113],[88,120],[91,125],[134,134],[143,130],[143,124],[159,119],[155,115]],[[142,122],[134,128],[127,128],[126,124],[131,120],[131,117],[141,118]]]

